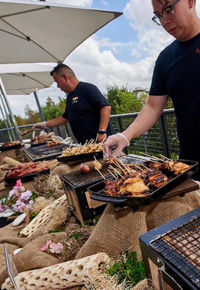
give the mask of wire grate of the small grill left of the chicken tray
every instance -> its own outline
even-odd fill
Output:
[[[106,164],[106,162],[101,163],[101,164],[102,164],[102,169],[100,170],[100,172],[105,177],[110,175],[109,172],[107,171],[108,165]],[[80,170],[77,170],[77,171],[65,173],[62,175],[62,177],[65,179],[65,181],[67,182],[69,181],[75,186],[83,185],[83,184],[86,184],[88,182],[92,182],[98,179],[100,181],[102,179],[101,175],[98,173],[98,171],[94,170],[93,167],[92,168],[90,167],[90,171],[87,174],[85,174],[84,172]]]

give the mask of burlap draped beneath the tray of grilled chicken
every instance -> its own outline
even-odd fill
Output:
[[[199,193],[200,189],[186,193],[184,197],[171,197],[148,206],[140,206],[138,210],[128,209],[118,213],[114,212],[112,204],[108,204],[89,239],[75,258],[101,251],[115,257],[129,249],[136,251],[138,259],[141,260],[138,236],[200,206]],[[157,270],[153,284],[158,285]]]

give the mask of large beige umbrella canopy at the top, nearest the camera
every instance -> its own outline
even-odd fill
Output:
[[[61,62],[121,12],[0,0],[0,63]]]

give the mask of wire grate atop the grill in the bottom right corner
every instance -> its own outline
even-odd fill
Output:
[[[150,246],[200,289],[200,216],[160,235]]]

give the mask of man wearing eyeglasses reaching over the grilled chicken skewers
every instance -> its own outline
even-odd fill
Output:
[[[149,97],[133,123],[108,137],[104,152],[110,157],[157,121],[171,97],[180,143],[179,157],[200,162],[200,20],[195,0],[151,0],[155,24],[176,39],[163,49],[154,66]],[[200,174],[199,174],[200,177]]]

